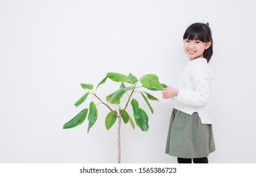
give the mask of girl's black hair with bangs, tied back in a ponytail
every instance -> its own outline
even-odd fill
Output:
[[[213,41],[212,41],[212,33],[209,28],[209,23],[193,23],[192,25],[188,26],[186,29],[183,40],[199,40],[204,43],[211,42],[211,45],[209,48],[204,50],[204,58],[206,58],[207,62],[210,62],[210,58],[213,54]]]

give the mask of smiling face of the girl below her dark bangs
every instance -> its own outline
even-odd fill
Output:
[[[194,60],[195,58],[204,57],[204,50],[209,48],[211,42],[205,43],[199,40],[183,40],[183,49],[186,55],[190,58],[190,60]]]

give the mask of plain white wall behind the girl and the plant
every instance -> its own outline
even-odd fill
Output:
[[[0,1],[0,163],[116,163],[117,124],[108,110],[90,133],[62,126],[82,107],[80,83],[97,85],[107,72],[156,74],[175,86],[188,58],[182,36],[209,22],[216,75],[211,163],[255,163],[255,16],[253,1]],[[104,89],[104,86],[106,88]],[[103,97],[115,91],[110,80]],[[164,154],[173,101],[149,114],[149,131],[122,126],[123,163],[176,163]],[[88,104],[85,104],[88,106]],[[85,107],[83,106],[83,107]]]

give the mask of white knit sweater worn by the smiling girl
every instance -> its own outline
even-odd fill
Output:
[[[173,108],[190,115],[197,112],[202,123],[211,124],[213,78],[205,58],[190,60],[181,74]]]

